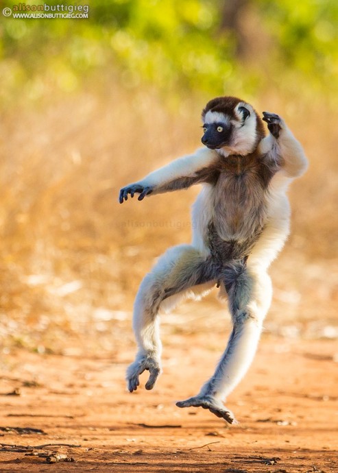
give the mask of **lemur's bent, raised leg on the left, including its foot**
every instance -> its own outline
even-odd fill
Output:
[[[141,282],[134,304],[133,328],[138,344],[136,359],[127,369],[126,379],[130,392],[136,391],[138,377],[146,369],[149,380],[145,389],[152,389],[160,374],[161,342],[158,310],[169,298],[176,305],[187,289],[213,279],[206,257],[191,245],[179,245],[163,254],[152,271]],[[175,297],[176,300],[175,300]]]

